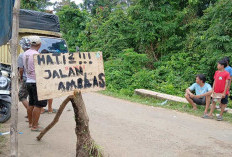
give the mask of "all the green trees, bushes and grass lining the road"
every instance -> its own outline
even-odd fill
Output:
[[[54,5],[70,52],[76,46],[103,52],[107,95],[157,106],[160,100],[135,96],[134,89],[183,97],[196,74],[212,85],[217,61],[232,54],[231,0],[38,1],[43,5],[21,6],[44,11]],[[163,107],[203,113],[181,103]],[[224,119],[232,121],[228,114]]]

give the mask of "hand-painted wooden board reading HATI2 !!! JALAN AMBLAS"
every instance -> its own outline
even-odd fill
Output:
[[[34,64],[39,100],[106,87],[102,52],[38,54]]]

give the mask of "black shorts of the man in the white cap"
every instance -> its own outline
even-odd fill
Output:
[[[26,85],[27,91],[29,93],[29,106],[35,106],[39,108],[46,107],[47,100],[38,100],[36,83],[26,83]]]

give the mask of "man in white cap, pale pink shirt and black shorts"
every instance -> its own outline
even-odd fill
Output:
[[[38,100],[36,90],[36,76],[33,56],[39,54],[38,50],[41,47],[41,40],[38,36],[29,37],[31,48],[23,55],[23,66],[26,71],[26,85],[29,93],[29,106],[27,109],[29,127],[31,131],[41,131],[38,126],[40,112],[43,107],[47,106],[47,100]]]

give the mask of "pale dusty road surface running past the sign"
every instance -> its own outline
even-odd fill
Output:
[[[64,97],[65,98],[65,97]],[[54,100],[58,108],[64,98]],[[132,103],[97,93],[83,94],[93,139],[111,157],[231,157],[232,125]],[[74,157],[76,135],[71,104],[42,139],[25,122],[19,105],[20,157]],[[46,127],[55,114],[41,115]]]

